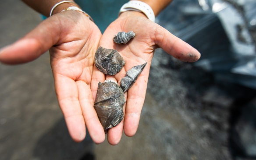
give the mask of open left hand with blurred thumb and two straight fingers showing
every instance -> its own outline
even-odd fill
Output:
[[[67,10],[47,18],[25,37],[0,51],[0,62],[19,64],[50,50],[57,98],[76,142],[85,138],[85,125],[95,143],[105,139],[90,90],[100,38],[99,28],[88,17]]]

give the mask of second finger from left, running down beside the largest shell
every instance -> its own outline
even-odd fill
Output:
[[[78,86],[79,102],[82,108],[82,113],[89,134],[93,142],[95,142],[96,144],[103,143],[105,139],[105,132],[102,125],[100,124],[97,113],[93,108],[94,101],[92,97],[92,92],[85,82],[78,80],[76,81],[76,83]]]

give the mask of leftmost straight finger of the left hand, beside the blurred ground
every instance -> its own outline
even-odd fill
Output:
[[[60,109],[67,123],[68,131],[75,142],[81,142],[85,138],[85,120],[78,101],[78,89],[74,80],[54,75],[55,89],[59,100]]]

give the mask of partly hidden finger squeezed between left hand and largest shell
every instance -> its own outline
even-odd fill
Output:
[[[92,72],[91,90],[93,99],[96,99],[97,89],[99,82],[104,82],[106,80],[105,74],[101,73],[100,70],[94,65]]]

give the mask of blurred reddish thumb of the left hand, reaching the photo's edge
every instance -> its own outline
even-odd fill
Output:
[[[32,61],[46,52],[59,39],[59,24],[50,17],[17,42],[0,50],[0,62],[20,64]]]

